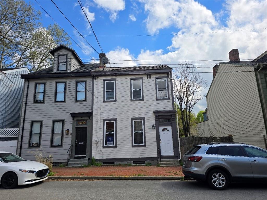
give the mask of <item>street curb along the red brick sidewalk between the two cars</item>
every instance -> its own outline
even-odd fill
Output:
[[[180,176],[49,176],[48,179],[182,180]]]

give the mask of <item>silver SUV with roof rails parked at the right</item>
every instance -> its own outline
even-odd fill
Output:
[[[207,181],[215,190],[230,182],[267,179],[267,151],[243,143],[194,145],[183,156],[185,177]]]

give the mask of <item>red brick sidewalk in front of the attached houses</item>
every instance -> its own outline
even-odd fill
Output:
[[[182,167],[90,166],[53,167],[55,176],[183,176]]]

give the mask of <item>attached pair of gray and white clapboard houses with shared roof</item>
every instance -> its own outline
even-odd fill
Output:
[[[171,68],[84,64],[60,45],[53,66],[25,74],[17,154],[42,150],[55,163],[178,164]],[[165,160],[167,161],[167,160]],[[168,163],[166,163],[168,164]]]

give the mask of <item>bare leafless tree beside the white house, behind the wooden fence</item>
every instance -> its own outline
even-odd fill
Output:
[[[190,135],[191,113],[196,103],[205,97],[200,92],[207,87],[207,81],[203,79],[202,74],[197,73],[194,65],[180,64],[174,70],[174,75],[177,107],[180,110],[184,136],[188,137]]]

